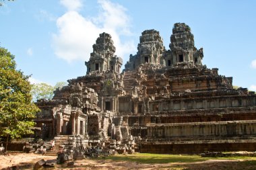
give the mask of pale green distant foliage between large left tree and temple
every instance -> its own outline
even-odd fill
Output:
[[[57,88],[61,88],[67,85],[65,82],[57,82],[56,85],[53,87],[46,83],[37,83],[32,85],[31,94],[34,100],[37,99],[52,99],[53,98],[53,91]]]

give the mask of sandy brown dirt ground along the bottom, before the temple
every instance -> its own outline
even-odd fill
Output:
[[[14,165],[27,165],[30,164],[30,167],[26,169],[32,169],[31,165],[36,163],[38,160],[44,159],[51,160],[56,159],[56,157],[36,155],[33,153],[11,153],[9,155],[0,155],[0,169],[5,169]],[[245,159],[237,160],[217,160],[210,159],[207,161],[201,161],[196,163],[166,163],[166,164],[144,164],[144,163],[135,163],[128,161],[111,161],[105,159],[83,159],[75,161],[74,165],[68,166],[57,165],[55,169],[256,169],[255,163],[247,161]]]

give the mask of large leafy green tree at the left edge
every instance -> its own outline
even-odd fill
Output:
[[[7,138],[6,144],[9,138],[32,134],[32,120],[40,111],[31,102],[28,78],[22,71],[16,70],[14,56],[0,47],[0,136]]]

